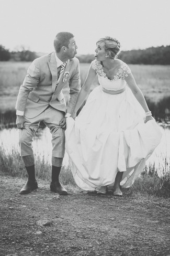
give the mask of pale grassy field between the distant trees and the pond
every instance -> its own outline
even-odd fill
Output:
[[[0,111],[14,110],[20,84],[30,62],[0,62]],[[143,94],[154,102],[170,96],[170,66],[129,65]],[[86,78],[89,63],[81,63],[81,84]],[[93,89],[94,87],[92,87]]]

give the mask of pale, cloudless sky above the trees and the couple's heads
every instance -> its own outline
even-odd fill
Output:
[[[104,36],[121,50],[166,46],[169,10],[170,0],[0,0],[0,45],[49,53],[55,35],[69,31],[78,54],[94,54]]]

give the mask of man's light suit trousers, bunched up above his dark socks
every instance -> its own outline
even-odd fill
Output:
[[[41,121],[49,127],[52,134],[52,156],[64,157],[65,152],[65,132],[59,125],[64,117],[64,112],[56,110],[49,106],[35,118],[25,118],[24,129],[19,130],[20,156],[33,155],[32,141]]]

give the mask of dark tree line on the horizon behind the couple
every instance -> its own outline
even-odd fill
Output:
[[[32,52],[23,46],[19,50],[10,52],[0,45],[0,61],[32,61],[38,57],[40,55],[37,52]],[[91,54],[78,55],[77,58],[84,63],[90,63],[95,59]],[[170,45],[121,51],[118,58],[129,64],[170,65]]]

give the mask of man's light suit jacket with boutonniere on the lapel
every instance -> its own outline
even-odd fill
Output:
[[[64,72],[69,76],[63,81]],[[27,118],[34,118],[48,105],[64,113],[72,113],[80,91],[80,65],[77,58],[67,61],[59,84],[55,52],[35,59],[28,68],[20,86],[16,109],[24,111]]]

